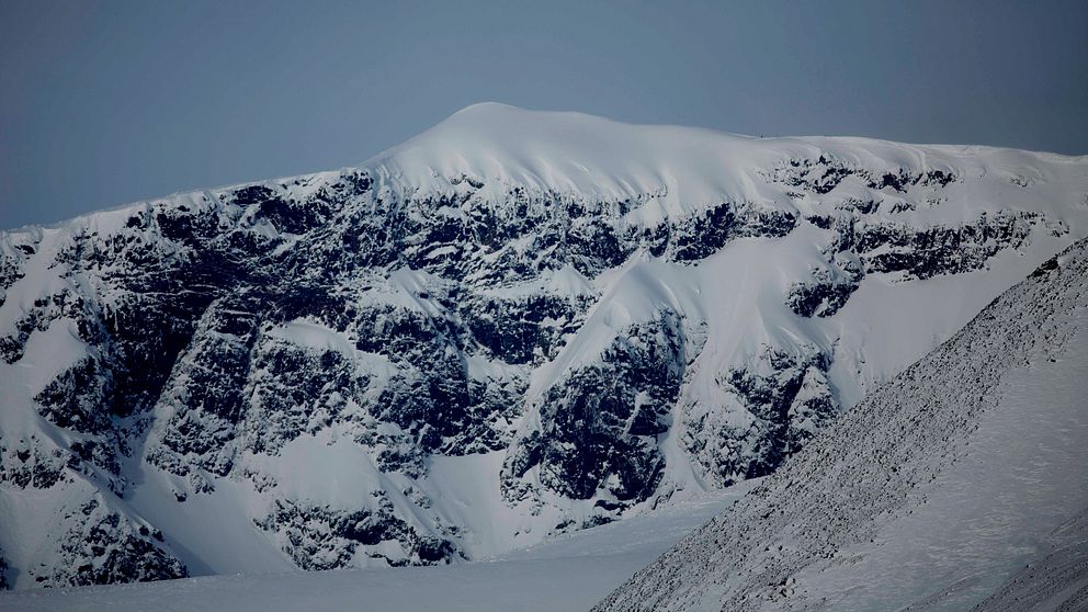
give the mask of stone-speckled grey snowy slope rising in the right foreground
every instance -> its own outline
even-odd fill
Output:
[[[1086,331],[1083,240],[597,610],[1079,609]]]

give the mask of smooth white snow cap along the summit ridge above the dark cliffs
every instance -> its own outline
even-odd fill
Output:
[[[655,194],[666,209],[724,200],[777,200],[752,180],[790,160],[820,156],[852,167],[933,170],[1009,178],[1033,160],[1063,157],[979,146],[903,145],[854,137],[760,138],[676,125],[634,125],[578,112],[473,104],[364,162],[378,178],[441,189],[464,177],[488,184],[577,193],[609,200]],[[1031,180],[1030,178],[1025,178]]]

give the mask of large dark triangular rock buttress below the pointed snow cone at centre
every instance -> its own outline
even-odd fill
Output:
[[[665,467],[656,437],[669,429],[694,354],[698,347],[689,347],[675,313],[623,330],[599,363],[547,389],[541,426],[521,434],[505,476],[520,478],[539,467],[544,487],[571,499],[603,494],[608,510],[646,499]]]

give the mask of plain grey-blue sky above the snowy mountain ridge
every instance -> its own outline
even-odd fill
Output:
[[[0,227],[362,161],[495,100],[1088,154],[1088,1],[0,2]]]

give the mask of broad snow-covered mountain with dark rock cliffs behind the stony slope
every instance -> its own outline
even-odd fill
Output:
[[[483,558],[773,472],[1088,235],[1088,159],[471,106],[0,234],[8,586]]]

